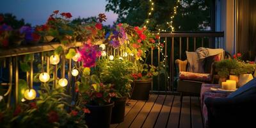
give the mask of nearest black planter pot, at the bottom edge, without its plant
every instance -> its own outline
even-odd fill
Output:
[[[111,113],[114,102],[104,106],[92,106],[86,104],[86,107],[91,111],[85,116],[86,124],[89,128],[108,128],[111,122]]]

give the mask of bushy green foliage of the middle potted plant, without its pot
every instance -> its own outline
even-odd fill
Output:
[[[95,74],[104,84],[113,84],[118,97],[129,96],[131,90],[131,72],[134,70],[131,61],[102,59],[97,62]]]

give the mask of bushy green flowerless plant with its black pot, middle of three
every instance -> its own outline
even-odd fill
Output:
[[[97,62],[95,73],[100,76],[102,83],[113,84],[113,88],[116,90],[116,97],[112,99],[115,106],[112,111],[111,124],[124,121],[125,104],[131,91],[132,66],[130,61],[119,58],[115,60],[102,59]]]

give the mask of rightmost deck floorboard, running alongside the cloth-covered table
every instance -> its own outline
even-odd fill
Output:
[[[203,127],[198,97],[191,97],[191,124],[192,127]]]

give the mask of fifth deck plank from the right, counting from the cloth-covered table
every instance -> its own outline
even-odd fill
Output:
[[[163,106],[163,102],[166,95],[159,95],[157,97],[157,100],[151,109],[149,115],[147,116],[147,119],[145,120],[145,123],[143,124],[143,127],[154,127],[154,124],[157,120],[157,116],[159,115],[161,108]]]

